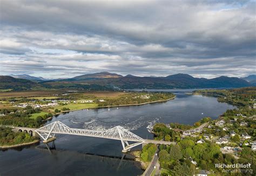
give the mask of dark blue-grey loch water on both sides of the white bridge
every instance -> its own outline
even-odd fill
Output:
[[[173,90],[172,90],[173,91]],[[60,114],[59,120],[70,127],[105,130],[120,125],[142,138],[153,138],[147,127],[156,122],[194,124],[203,117],[218,118],[234,106],[218,103],[217,98],[191,96],[174,90],[176,99],[164,103]],[[203,113],[203,114],[202,114]],[[54,150],[45,144],[0,151],[0,175],[138,175],[139,163],[121,153],[118,140],[59,135]],[[141,146],[138,146],[140,148]],[[122,159],[123,157],[123,159]]]

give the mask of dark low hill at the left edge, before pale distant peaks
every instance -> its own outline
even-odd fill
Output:
[[[0,76],[0,89],[28,90],[38,86],[28,79],[19,79],[10,76]]]

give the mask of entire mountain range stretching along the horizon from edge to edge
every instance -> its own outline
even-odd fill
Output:
[[[32,89],[35,87],[49,89],[195,89],[195,88],[235,88],[255,86],[255,75],[245,78],[221,76],[213,79],[195,78],[178,73],[166,77],[138,77],[99,72],[68,79],[46,80],[29,75],[0,76],[0,89]],[[26,85],[23,85],[26,84]]]

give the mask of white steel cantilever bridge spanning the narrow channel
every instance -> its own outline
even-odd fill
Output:
[[[126,130],[121,126],[116,126],[105,131],[97,131],[70,128],[65,124],[61,123],[60,121],[55,121],[51,124],[38,128],[35,131],[44,140],[45,143],[47,143],[51,139],[55,139],[55,134],[73,134],[78,136],[120,140],[123,146],[123,152],[127,152],[132,147],[138,146],[140,144],[172,144],[172,142],[169,141],[147,140],[140,138],[136,134],[133,134],[132,132]],[[129,144],[128,142],[132,142],[133,144]]]

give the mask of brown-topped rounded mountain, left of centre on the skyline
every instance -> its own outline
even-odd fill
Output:
[[[121,78],[121,77],[123,77],[123,76],[118,75],[116,73],[98,72],[98,73],[92,73],[92,74],[86,74],[86,75],[73,77],[68,80],[86,80],[86,79]]]

